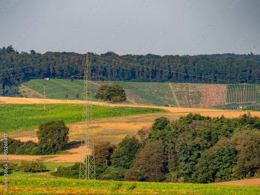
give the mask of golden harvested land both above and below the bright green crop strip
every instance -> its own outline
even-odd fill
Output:
[[[42,103],[43,99],[34,98],[5,98],[0,97],[0,102],[13,103]],[[48,103],[82,103],[82,101],[73,100],[50,100]],[[196,109],[196,108],[176,108],[176,107],[158,107],[158,106],[144,106],[144,105],[126,105],[113,104],[106,102],[92,102],[95,104],[103,104],[109,106],[135,106],[135,107],[156,107],[168,110],[168,113],[160,114],[139,114],[134,116],[121,116],[109,119],[93,120],[94,141],[103,140],[110,141],[113,144],[118,144],[126,135],[136,135],[136,133],[143,128],[148,131],[154,119],[161,116],[167,117],[170,121],[178,119],[180,116],[186,116],[188,113],[200,113],[203,116],[217,117],[224,115],[225,117],[238,117],[243,115],[245,111],[229,111],[229,110],[214,110],[214,109]],[[260,112],[251,112],[252,116],[260,116]],[[69,141],[81,140],[82,123],[68,124],[69,127]],[[36,136],[37,129],[27,129],[22,131],[15,131],[9,133],[9,137],[20,139],[21,141],[38,141]],[[73,147],[67,147],[68,154],[51,155],[51,156],[30,156],[30,155],[8,155],[9,160],[36,160],[49,162],[76,162],[80,158],[80,144]]]

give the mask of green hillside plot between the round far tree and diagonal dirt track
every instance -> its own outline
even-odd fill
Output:
[[[128,95],[134,94],[135,101],[145,100],[146,105],[164,106],[170,104],[177,106],[170,86],[168,83],[147,83],[147,82],[119,82],[113,81],[112,83],[120,84],[124,89],[131,90],[126,91]]]

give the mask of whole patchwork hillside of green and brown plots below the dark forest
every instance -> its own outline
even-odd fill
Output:
[[[92,82],[92,88],[97,89],[101,84],[119,83],[126,89],[127,102],[140,105],[164,106],[184,108],[217,108],[239,109],[260,108],[260,85],[258,84],[191,84],[191,83],[147,83],[147,82],[123,82],[111,81],[101,83]],[[20,93],[30,97],[38,94],[43,98],[43,84],[46,98],[65,99],[65,93],[80,89],[84,85],[83,80],[71,83],[70,79],[33,79],[23,83]],[[69,100],[76,100],[75,94],[68,94]],[[79,95],[79,100],[83,96]],[[92,101],[96,101],[94,95]]]

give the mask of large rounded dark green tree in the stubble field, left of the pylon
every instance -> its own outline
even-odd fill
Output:
[[[67,146],[69,141],[68,134],[69,128],[62,120],[43,123],[39,126],[36,133],[39,140],[38,145],[53,152]]]

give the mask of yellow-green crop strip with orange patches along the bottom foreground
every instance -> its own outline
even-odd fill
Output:
[[[4,181],[4,177],[0,179]],[[8,192],[0,185],[2,194],[190,194],[219,195],[259,194],[259,186],[230,186],[209,184],[152,183],[56,179],[45,177],[8,177]]]

